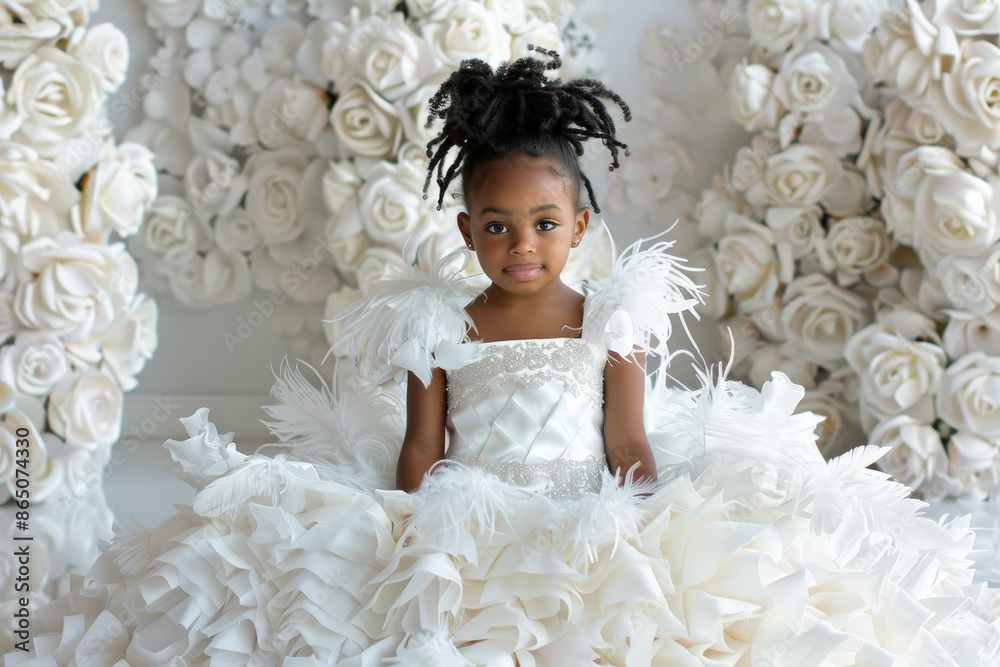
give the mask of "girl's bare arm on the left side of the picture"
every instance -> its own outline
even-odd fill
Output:
[[[396,487],[412,493],[427,470],[444,458],[444,420],[447,395],[445,374],[431,371],[431,382],[423,383],[412,372],[406,381],[406,434],[396,463]]]

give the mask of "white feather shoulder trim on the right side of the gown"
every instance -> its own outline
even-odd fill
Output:
[[[622,251],[607,278],[586,284],[583,335],[622,356],[655,352],[669,360],[671,315],[681,315],[687,330],[683,313],[698,318],[694,308],[705,297],[703,286],[682,271],[702,269],[684,267],[687,260],[666,252],[676,241],[660,241],[642,249],[647,240],[651,239],[639,239]]]

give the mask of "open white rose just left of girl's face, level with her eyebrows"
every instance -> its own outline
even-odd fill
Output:
[[[414,232],[427,229],[434,204],[423,199],[422,173],[406,163],[383,162],[367,177],[358,197],[361,224],[373,240],[399,249]]]

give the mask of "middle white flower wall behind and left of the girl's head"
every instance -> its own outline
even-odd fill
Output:
[[[359,289],[463,245],[454,200],[438,211],[422,196],[438,85],[466,58],[496,66],[532,44],[564,56],[563,76],[603,61],[589,0],[146,8],[158,49],[145,117],[127,136],[153,151],[159,175],[131,240],[143,279],[194,307],[253,294],[228,350],[280,310],[270,322],[317,364],[336,337],[323,320]],[[577,255],[578,278],[607,250],[598,236]]]

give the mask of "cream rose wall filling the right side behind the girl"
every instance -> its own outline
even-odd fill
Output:
[[[735,373],[804,385],[827,455],[868,439],[925,499],[995,494],[1000,3],[696,4],[701,33],[644,49],[749,133],[692,207]]]

